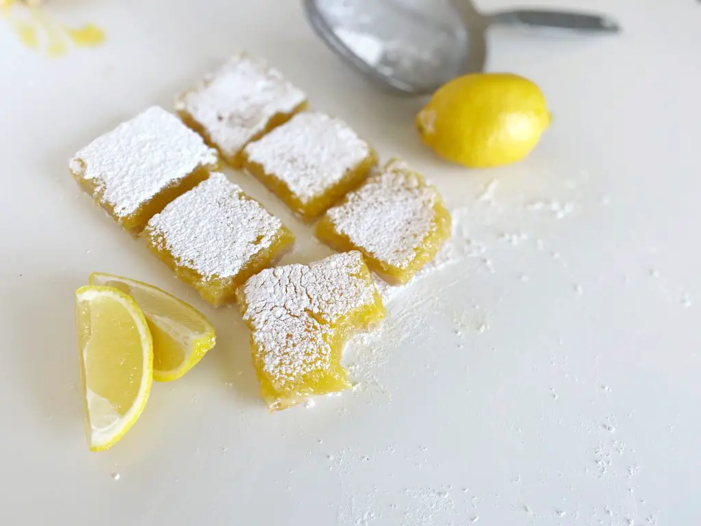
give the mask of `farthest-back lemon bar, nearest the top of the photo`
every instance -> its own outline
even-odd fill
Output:
[[[306,106],[306,95],[265,60],[240,53],[190,91],[175,109],[188,126],[240,168],[250,141],[289,120]]]

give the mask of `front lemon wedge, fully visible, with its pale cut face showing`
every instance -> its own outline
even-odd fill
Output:
[[[88,445],[104,451],[146,406],[153,382],[151,332],[134,299],[93,285],[76,291],[76,328]]]

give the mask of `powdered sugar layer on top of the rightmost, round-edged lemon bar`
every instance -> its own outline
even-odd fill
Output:
[[[330,208],[327,219],[356,247],[392,267],[404,269],[435,224],[438,191],[393,160],[371,175],[341,205]]]

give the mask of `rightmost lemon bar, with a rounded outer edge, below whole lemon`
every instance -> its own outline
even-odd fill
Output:
[[[393,159],[327,211],[316,236],[336,250],[360,250],[386,281],[407,283],[450,237],[437,189]]]

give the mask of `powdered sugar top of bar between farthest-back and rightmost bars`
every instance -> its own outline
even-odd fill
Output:
[[[308,203],[339,184],[372,149],[343,121],[309,112],[250,143],[245,154]]]

